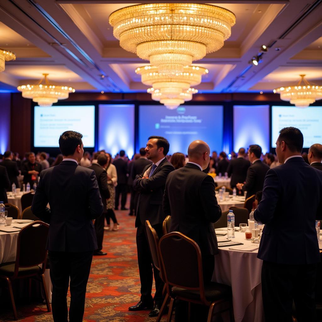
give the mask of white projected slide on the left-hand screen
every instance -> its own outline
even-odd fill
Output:
[[[83,135],[84,147],[94,147],[95,106],[34,108],[34,147],[59,147],[60,135],[68,130]]]

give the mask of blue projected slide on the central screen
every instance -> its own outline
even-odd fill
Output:
[[[187,154],[189,144],[203,140],[210,151],[223,150],[223,106],[183,105],[167,109],[160,105],[139,107],[139,147],[146,147],[147,138],[156,135],[170,143],[169,154]]]

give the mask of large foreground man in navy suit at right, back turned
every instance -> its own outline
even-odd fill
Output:
[[[254,212],[264,223],[257,257],[262,264],[265,321],[315,321],[314,288],[320,261],[315,221],[322,218],[322,172],[301,156],[303,135],[283,128],[276,141],[282,165],[266,175],[263,196]]]

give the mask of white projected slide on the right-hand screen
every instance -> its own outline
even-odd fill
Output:
[[[282,128],[299,128],[304,137],[304,148],[322,143],[322,106],[299,109],[294,106],[272,106],[272,147]]]

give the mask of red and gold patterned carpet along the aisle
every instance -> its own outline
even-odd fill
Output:
[[[130,312],[128,307],[136,304],[140,298],[140,279],[137,266],[135,242],[135,217],[128,211],[117,211],[120,223],[117,232],[105,231],[103,251],[107,256],[94,256],[90,278],[87,285],[84,322],[152,322],[156,317],[148,317],[149,310]],[[3,291],[4,299],[5,290]],[[7,296],[5,296],[7,298]],[[0,321],[13,320],[10,302],[0,303]],[[17,301],[17,313],[22,322],[53,321],[46,305],[27,300]],[[166,315],[162,318],[166,321]]]

